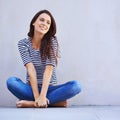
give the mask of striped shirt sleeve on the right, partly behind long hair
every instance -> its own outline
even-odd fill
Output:
[[[46,65],[53,65],[54,67],[56,66],[56,54],[58,50],[58,43],[56,38],[52,38],[52,48],[54,54],[51,53],[51,59],[46,60]]]

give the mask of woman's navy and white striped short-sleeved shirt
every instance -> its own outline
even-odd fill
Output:
[[[55,38],[52,38],[52,43],[53,43],[53,50],[54,53],[56,53],[57,51],[57,41]],[[45,67],[46,65],[52,65],[53,66],[53,73],[51,76],[51,81],[50,84],[56,84],[57,83],[57,79],[56,79],[56,60],[55,57],[53,57],[51,55],[51,59],[46,59],[46,60],[42,60],[41,59],[41,54],[40,54],[40,50],[35,50],[32,47],[32,43],[30,38],[25,38],[22,39],[18,42],[18,49],[23,61],[23,64],[26,65],[29,62],[32,62],[35,70],[36,70],[36,74],[37,74],[37,80],[38,80],[38,84],[42,84],[42,80],[43,80],[43,74],[45,71]],[[30,81],[29,75],[27,73],[26,75],[26,80]]]

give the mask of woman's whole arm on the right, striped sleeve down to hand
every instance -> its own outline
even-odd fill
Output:
[[[47,103],[49,103],[48,99],[46,98],[48,86],[51,80],[53,67],[56,67],[56,57],[58,52],[58,43],[56,38],[52,39],[52,47],[53,51],[51,50],[51,60],[46,59],[46,68],[43,74],[43,82],[42,82],[42,89],[39,98],[37,99],[37,103],[39,107],[47,107]],[[54,54],[53,54],[54,52]]]

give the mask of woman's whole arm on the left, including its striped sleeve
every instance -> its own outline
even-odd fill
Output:
[[[36,70],[34,68],[34,65],[32,63],[32,59],[30,57],[30,48],[28,44],[28,39],[20,40],[18,42],[18,49],[19,49],[21,58],[23,60],[23,64],[27,69],[34,99],[36,100],[39,97],[37,75],[36,75]],[[38,107],[35,102],[34,102],[34,106]]]

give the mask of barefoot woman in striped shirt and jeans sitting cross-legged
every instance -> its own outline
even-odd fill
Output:
[[[17,107],[66,107],[67,99],[81,91],[80,84],[75,80],[56,84],[58,42],[55,34],[53,16],[48,10],[42,10],[32,19],[28,38],[18,42],[27,69],[27,82],[17,77],[7,80],[8,89],[19,99]]]

